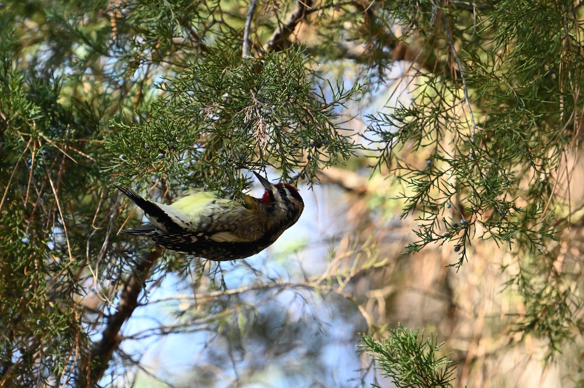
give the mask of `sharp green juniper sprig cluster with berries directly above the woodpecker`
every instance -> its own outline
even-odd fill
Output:
[[[152,104],[150,118],[114,120],[105,138],[119,155],[106,170],[124,173],[120,183],[156,174],[183,188],[239,193],[246,186],[241,169],[270,164],[286,181],[296,183],[301,173],[312,181],[318,169],[352,154],[337,115],[359,85],[315,90],[301,50],[261,60],[207,53],[159,88],[165,97]]]

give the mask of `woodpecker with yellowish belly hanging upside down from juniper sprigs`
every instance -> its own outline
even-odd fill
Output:
[[[167,249],[208,260],[252,256],[294,225],[304,209],[296,188],[286,183],[272,184],[256,172],[253,174],[266,189],[262,198],[242,194],[230,199],[211,191],[193,191],[165,205],[145,200],[130,188],[116,186],[150,221],[120,232],[148,236]]]

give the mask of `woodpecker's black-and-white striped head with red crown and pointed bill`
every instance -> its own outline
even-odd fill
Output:
[[[304,210],[304,201],[298,190],[287,183],[272,184],[255,171],[253,174],[266,189],[261,202],[273,216],[274,223],[286,225],[286,228],[296,223]]]

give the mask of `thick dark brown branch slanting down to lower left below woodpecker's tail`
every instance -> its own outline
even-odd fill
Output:
[[[135,308],[138,306],[138,295],[144,286],[144,282],[150,274],[154,263],[162,253],[162,247],[147,254],[140,260],[134,268],[134,273],[130,275],[126,286],[121,292],[120,303],[117,305],[117,312],[110,317],[102,339],[91,349],[91,367],[85,379],[80,379],[78,386],[95,387],[107,369],[107,365],[112,358],[114,350],[120,345],[119,332],[124,322],[130,318]],[[84,384],[85,380],[85,384]]]

